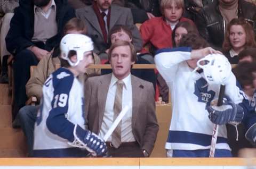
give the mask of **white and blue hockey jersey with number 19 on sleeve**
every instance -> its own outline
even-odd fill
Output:
[[[68,69],[53,72],[43,86],[34,130],[34,150],[71,146],[74,124],[85,129],[83,84]]]

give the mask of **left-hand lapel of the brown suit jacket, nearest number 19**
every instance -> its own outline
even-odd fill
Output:
[[[104,78],[102,78],[99,81],[98,93],[97,93],[98,106],[99,106],[99,131],[101,128],[101,124],[103,122],[103,114],[104,114],[105,106],[107,102],[106,100],[107,100],[107,94],[108,94],[108,89],[110,85],[111,75],[112,75],[111,73],[107,74],[104,76]]]

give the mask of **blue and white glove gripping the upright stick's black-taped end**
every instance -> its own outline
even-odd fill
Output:
[[[222,106],[217,106],[218,99],[211,102],[211,106],[207,107],[209,119],[214,124],[233,124],[241,123],[244,117],[244,110],[238,104],[232,102],[228,97],[223,98]]]

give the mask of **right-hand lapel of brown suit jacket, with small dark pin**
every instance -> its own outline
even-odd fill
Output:
[[[138,111],[140,107],[141,102],[141,96],[143,92],[143,85],[141,85],[140,82],[138,82],[133,75],[131,75],[131,81],[132,81],[132,128],[134,128]]]

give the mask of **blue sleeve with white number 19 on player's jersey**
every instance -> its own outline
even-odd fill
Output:
[[[74,124],[65,117],[68,112],[69,92],[72,88],[74,75],[68,69],[60,68],[52,74],[54,95],[52,109],[46,120],[49,131],[59,137],[74,141]]]

